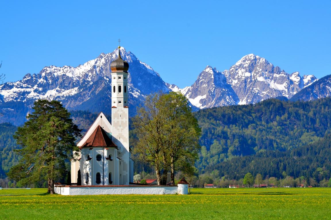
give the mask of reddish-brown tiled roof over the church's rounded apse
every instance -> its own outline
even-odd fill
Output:
[[[106,131],[98,125],[91,136],[85,141],[82,147],[117,147],[108,137]]]

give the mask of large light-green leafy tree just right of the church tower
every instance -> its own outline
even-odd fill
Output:
[[[158,184],[166,184],[171,172],[189,170],[198,158],[200,128],[187,99],[181,94],[155,93],[133,119],[137,137],[134,151],[155,166]]]

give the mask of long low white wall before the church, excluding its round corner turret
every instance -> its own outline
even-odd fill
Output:
[[[55,193],[62,195],[164,195],[177,194],[176,186],[154,187],[55,187]]]

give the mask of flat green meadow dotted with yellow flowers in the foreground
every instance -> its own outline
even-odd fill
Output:
[[[0,219],[331,219],[331,188],[192,189],[191,195],[0,190]]]

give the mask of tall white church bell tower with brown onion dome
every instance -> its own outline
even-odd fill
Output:
[[[129,64],[118,46],[118,57],[110,64],[112,70],[112,141],[118,147],[119,184],[129,184],[129,111],[127,76]]]

